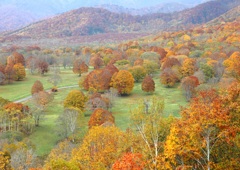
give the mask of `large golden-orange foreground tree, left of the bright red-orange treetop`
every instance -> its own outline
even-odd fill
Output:
[[[72,161],[82,169],[111,169],[126,148],[122,146],[124,133],[117,127],[92,127],[82,145],[72,152]]]

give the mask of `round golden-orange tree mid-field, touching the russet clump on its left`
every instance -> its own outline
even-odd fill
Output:
[[[118,90],[121,95],[128,95],[134,87],[134,78],[129,71],[120,70],[115,73],[111,80],[111,86]]]

